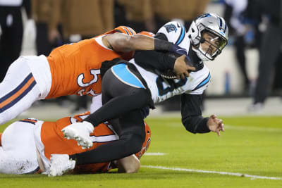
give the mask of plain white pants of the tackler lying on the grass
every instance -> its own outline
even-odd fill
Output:
[[[0,173],[26,174],[39,170],[34,126],[18,121],[4,130],[0,147]]]

